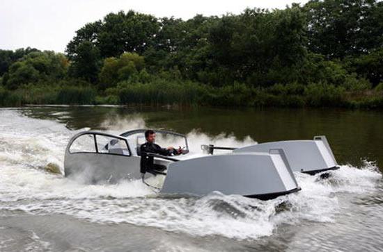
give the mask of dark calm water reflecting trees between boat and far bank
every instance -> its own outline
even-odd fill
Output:
[[[326,135],[336,160],[361,166],[375,160],[383,167],[383,112],[338,109],[223,109],[129,107],[29,107],[29,117],[55,119],[70,129],[162,128],[179,133],[199,130],[257,142],[312,139]]]

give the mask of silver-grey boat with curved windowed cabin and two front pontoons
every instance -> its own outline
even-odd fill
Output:
[[[182,150],[178,156],[162,156],[141,153],[141,144],[146,142],[145,131],[137,129],[120,135],[100,131],[77,133],[65,149],[65,176],[81,179],[85,183],[141,180],[145,185],[155,187],[159,194],[202,196],[219,191],[257,199],[274,199],[300,190],[293,171],[302,167],[304,172],[310,173],[318,171],[313,167],[323,167],[320,162],[313,164],[315,160],[308,162],[309,158],[299,162],[299,148],[308,150],[307,146],[313,147],[315,144],[318,148],[311,148],[313,153],[319,151],[315,155],[322,158],[332,155],[325,137],[317,137],[309,144],[304,140],[290,141],[288,144],[286,142],[289,141],[253,144],[240,148],[205,144],[201,146],[201,153],[193,153],[189,151],[185,135],[158,130],[155,131],[157,143],[180,146]],[[299,147],[299,143],[304,145]],[[214,153],[215,149],[226,152],[217,154],[217,151]],[[314,157],[311,152],[307,155]],[[331,164],[325,160],[326,167],[322,170],[334,165],[336,161],[334,156],[332,158]],[[149,169],[153,166],[162,169]],[[150,185],[150,178],[156,176],[164,177],[163,182],[159,186]]]

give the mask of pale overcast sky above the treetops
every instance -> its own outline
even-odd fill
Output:
[[[155,17],[240,13],[245,8],[286,8],[307,0],[0,0],[0,49],[35,47],[63,52],[81,26],[109,12],[136,10]]]

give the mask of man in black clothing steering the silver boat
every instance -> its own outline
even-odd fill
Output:
[[[173,146],[168,148],[161,148],[158,144],[155,144],[155,132],[148,130],[145,131],[146,143],[141,144],[141,173],[150,172],[152,174],[163,174],[162,171],[166,169],[163,165],[154,164],[154,158],[146,155],[146,153],[156,153],[162,156],[179,155],[182,153],[182,149],[174,149]]]

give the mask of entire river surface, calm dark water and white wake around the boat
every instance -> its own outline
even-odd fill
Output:
[[[326,135],[341,169],[327,179],[295,174],[302,190],[269,201],[169,199],[140,181],[64,178],[72,135],[134,128],[185,133],[194,149]],[[0,251],[382,251],[382,131],[376,111],[1,108]]]

